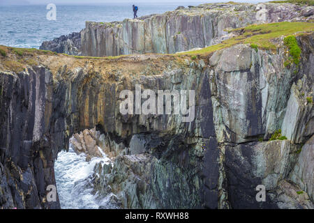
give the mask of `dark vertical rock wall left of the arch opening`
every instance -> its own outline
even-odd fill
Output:
[[[59,208],[59,201],[46,202],[64,128],[52,74],[43,67],[17,75],[1,72],[0,83],[1,206]]]

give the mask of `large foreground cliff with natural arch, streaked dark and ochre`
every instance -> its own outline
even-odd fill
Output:
[[[85,130],[75,147],[93,156],[97,144],[112,159],[94,185],[121,208],[313,208],[313,38],[297,36],[298,65],[286,63],[283,37],[275,51],[114,59],[3,47],[0,207],[59,208],[45,197],[54,160]],[[136,84],[194,90],[195,119],[122,115],[119,94]]]

